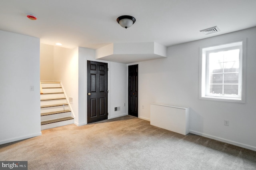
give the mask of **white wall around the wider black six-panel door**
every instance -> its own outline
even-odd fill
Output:
[[[79,122],[77,125],[87,123],[87,60],[108,63],[108,119],[127,115],[127,66],[122,63],[114,63],[95,59],[95,50],[78,47],[79,55]],[[114,108],[120,106],[119,112],[114,112]]]

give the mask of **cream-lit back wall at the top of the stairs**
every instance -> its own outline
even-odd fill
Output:
[[[54,81],[54,46],[40,43],[40,80]]]

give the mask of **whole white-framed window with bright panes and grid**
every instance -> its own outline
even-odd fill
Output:
[[[240,41],[200,48],[200,99],[244,103],[244,46]]]

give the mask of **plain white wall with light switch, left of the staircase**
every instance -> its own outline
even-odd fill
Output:
[[[4,144],[41,134],[40,40],[1,30],[0,37],[0,144]]]

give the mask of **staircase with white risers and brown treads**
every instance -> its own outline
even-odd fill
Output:
[[[74,123],[68,101],[60,82],[43,82],[41,100],[41,130]]]

